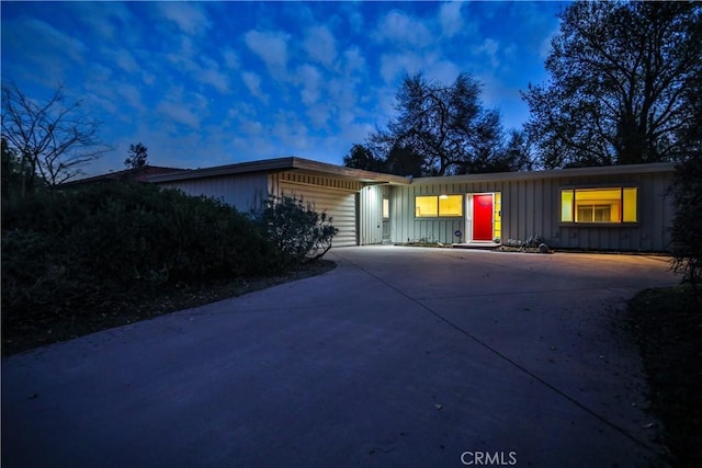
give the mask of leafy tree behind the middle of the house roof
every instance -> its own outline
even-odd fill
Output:
[[[420,73],[408,76],[396,95],[397,117],[369,140],[386,158],[393,148],[421,155],[422,175],[475,172],[500,156],[495,148],[502,138],[499,114],[483,109],[479,92],[466,73],[450,85],[427,82]]]

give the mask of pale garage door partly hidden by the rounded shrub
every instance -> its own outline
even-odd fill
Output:
[[[283,181],[281,181],[281,190],[284,195],[302,198],[304,203],[312,204],[315,212],[326,212],[327,216],[333,218],[331,224],[339,229],[331,242],[333,247],[356,244],[355,192]]]

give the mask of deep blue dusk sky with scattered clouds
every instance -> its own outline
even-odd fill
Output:
[[[506,128],[547,76],[561,2],[2,2],[2,81],[57,84],[114,149],[87,174],[297,156],[341,164],[394,115],[406,73],[468,72]]]

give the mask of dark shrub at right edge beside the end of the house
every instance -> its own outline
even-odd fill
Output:
[[[672,184],[672,269],[698,295],[702,283],[702,157],[676,167]]]

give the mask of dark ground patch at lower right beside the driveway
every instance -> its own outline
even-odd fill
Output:
[[[682,286],[645,289],[630,301],[629,320],[670,463],[701,467],[702,303]]]

